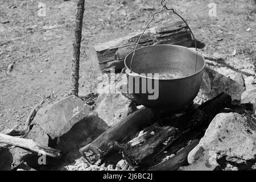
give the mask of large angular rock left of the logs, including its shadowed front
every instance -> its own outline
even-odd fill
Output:
[[[79,97],[69,96],[38,111],[34,123],[56,140],[51,147],[64,154],[79,155],[79,148],[106,131],[106,125],[96,112]],[[73,155],[72,155],[73,156]]]

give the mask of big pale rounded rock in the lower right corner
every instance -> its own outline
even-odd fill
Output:
[[[220,113],[214,117],[199,144],[188,155],[191,164],[204,153],[217,154],[218,163],[238,169],[253,168],[256,162],[256,121],[237,113]]]

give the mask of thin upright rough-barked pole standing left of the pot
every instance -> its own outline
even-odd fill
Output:
[[[75,27],[75,40],[73,42],[71,94],[78,96],[80,45],[81,45],[81,38],[82,38],[82,18],[84,17],[84,0],[77,0],[77,13],[75,17],[76,17],[76,27]]]

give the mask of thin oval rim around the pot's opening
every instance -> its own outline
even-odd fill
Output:
[[[151,45],[151,46],[144,46],[144,47],[141,47],[141,48],[138,48],[136,51],[138,51],[139,49],[144,49],[144,48],[147,48],[147,47],[155,47],[155,46],[170,46],[170,47],[180,47],[180,48],[184,48],[184,49],[187,49],[188,51],[192,52],[192,53],[196,53],[196,51],[188,48],[188,47],[184,47],[184,46],[177,46],[177,45],[170,45],[170,44],[157,44],[157,45]],[[140,76],[140,77],[144,77],[144,78],[151,78],[151,79],[155,79],[155,80],[183,80],[185,78],[189,78],[189,77],[193,77],[195,75],[197,75],[198,73],[200,73],[201,71],[203,71],[204,67],[205,67],[205,59],[204,59],[204,56],[202,56],[198,51],[197,51],[197,56],[201,56],[203,58],[203,61],[204,61],[204,64],[203,64],[203,67],[197,71],[196,73],[193,73],[192,75],[189,75],[189,76],[186,76],[186,77],[180,77],[180,78],[169,78],[169,79],[165,79],[165,78],[154,78],[154,77],[147,77],[147,76],[143,76],[143,75],[139,75],[139,73],[135,73],[135,72],[131,72],[130,69],[127,67],[126,65],[126,59],[127,57],[132,54],[134,51],[131,51],[130,53],[128,53],[126,56],[125,56],[125,60],[124,60],[124,63],[125,63],[125,67],[126,67],[126,70],[125,70],[125,73],[126,75],[129,75],[129,76]]]

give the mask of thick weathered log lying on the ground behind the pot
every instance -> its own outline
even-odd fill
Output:
[[[139,36],[141,36],[141,32],[134,32],[122,38],[94,46],[89,49],[89,59],[93,65],[100,65],[102,72],[108,72],[113,68],[115,71],[120,71],[125,67],[123,63],[125,56],[134,51]],[[175,44],[191,47],[191,33],[182,20],[160,24],[159,26],[148,28],[144,32],[138,48],[155,44]],[[98,69],[98,67],[96,68]]]

